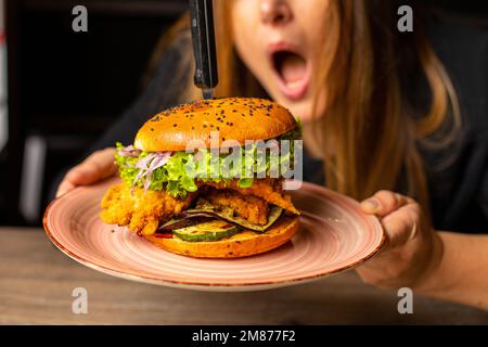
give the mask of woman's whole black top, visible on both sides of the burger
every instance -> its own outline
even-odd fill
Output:
[[[434,227],[459,232],[488,232],[488,30],[452,21],[429,23],[429,39],[445,64],[461,103],[463,137],[447,167],[438,168],[438,154],[424,153]],[[154,77],[140,98],[90,149],[132,143],[137,130],[155,113],[179,100],[189,67],[182,35],[160,57]],[[176,74],[183,70],[185,74]],[[323,184],[322,163],[304,157],[304,180]]]

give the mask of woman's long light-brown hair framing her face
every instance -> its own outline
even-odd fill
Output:
[[[214,3],[216,94],[262,95],[234,50],[232,1]],[[381,189],[396,190],[428,207],[420,151],[450,143],[460,129],[460,112],[452,83],[422,33],[421,9],[414,9],[414,30],[400,33],[399,5],[382,0],[330,1],[323,23],[318,24],[324,35],[313,79],[314,110],[319,95],[325,94],[325,114],[313,113],[309,128],[314,131],[304,136],[323,149],[329,188],[358,200]],[[188,23],[185,15],[176,28],[188,27]],[[422,88],[412,78],[419,75],[425,76],[429,95],[424,104],[412,98]],[[185,98],[200,98],[191,86],[189,78],[192,92]]]

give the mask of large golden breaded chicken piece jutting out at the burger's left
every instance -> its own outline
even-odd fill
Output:
[[[154,234],[159,222],[169,220],[190,206],[195,194],[176,198],[164,191],[144,192],[124,183],[113,185],[103,196],[100,218],[108,224],[129,226],[129,229],[144,235]]]

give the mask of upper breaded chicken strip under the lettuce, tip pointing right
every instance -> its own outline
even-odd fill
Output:
[[[210,185],[216,189],[231,189],[243,195],[254,195],[265,200],[269,204],[280,206],[286,210],[299,215],[300,213],[295,208],[295,206],[293,206],[291,195],[283,192],[282,183],[283,181],[279,179],[262,178],[255,179],[253,185],[249,188],[240,188],[237,185],[237,179],[234,179],[228,183],[223,180],[220,182],[200,181],[198,185]]]

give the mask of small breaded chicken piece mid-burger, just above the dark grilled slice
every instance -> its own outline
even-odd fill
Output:
[[[262,198],[243,195],[230,189],[215,188],[208,188],[204,197],[217,207],[230,207],[252,223],[265,226],[268,222],[268,203]]]

